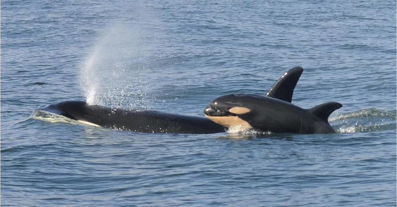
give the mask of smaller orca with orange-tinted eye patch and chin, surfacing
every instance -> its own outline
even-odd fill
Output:
[[[299,68],[298,71],[301,74],[303,69]],[[290,77],[298,80],[296,75]],[[273,87],[275,91],[271,89],[267,97],[252,94],[224,95],[212,100],[204,108],[204,114],[227,128],[240,126],[241,129],[253,128],[272,133],[335,133],[328,123],[328,117],[334,110],[341,108],[342,104],[330,102],[303,109],[291,103],[293,88],[295,85],[289,86],[285,91]]]

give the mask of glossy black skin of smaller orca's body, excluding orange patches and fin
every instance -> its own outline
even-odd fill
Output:
[[[233,107],[245,107],[245,114],[229,112]],[[237,116],[254,129],[273,133],[335,133],[328,121],[294,104],[279,99],[252,94],[224,95],[211,101],[204,109],[208,116]]]

